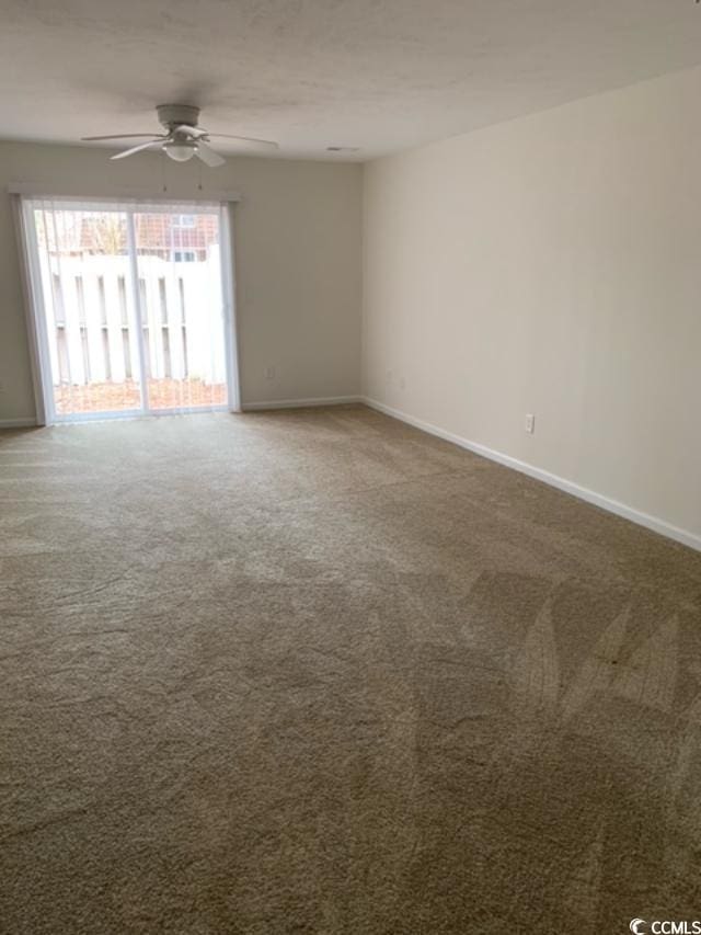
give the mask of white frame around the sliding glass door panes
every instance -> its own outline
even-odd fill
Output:
[[[142,205],[152,206],[158,202],[161,202],[163,207],[187,204],[188,206],[192,206],[193,213],[196,213],[198,205],[202,206],[204,202],[174,197],[164,198],[162,196],[159,198],[145,196],[139,198],[134,198],[133,196],[122,198],[119,196],[79,197],[72,195],[33,195],[28,191],[16,191],[15,186],[11,186],[11,198],[15,218],[18,252],[20,265],[22,266],[25,317],[36,404],[36,421],[38,425],[53,425],[57,422],[91,422],[107,419],[134,419],[147,415],[194,414],[217,410],[230,412],[241,411],[240,369],[237,341],[235,272],[230,219],[231,205],[233,202],[239,201],[238,195],[223,197],[219,203],[219,212],[217,215],[219,221],[219,265],[221,273],[222,338],[225,342],[223,351],[227,377],[227,403],[225,406],[207,408],[188,407],[172,410],[153,410],[149,407],[148,367],[142,340],[143,316],[141,309],[141,296],[139,294],[138,254],[136,250],[134,215],[138,214],[139,210],[142,209]],[[135,327],[137,329],[136,343],[139,352],[138,366],[141,402],[139,409],[119,410],[115,412],[74,413],[70,418],[60,417],[56,412],[48,334],[46,331],[46,315],[44,312],[44,289],[42,285],[41,270],[38,266],[39,252],[36,240],[36,227],[34,224],[34,217],[32,216],[32,203],[42,198],[55,198],[56,201],[66,202],[67,204],[70,204],[71,201],[81,202],[83,204],[93,201],[128,202],[124,205],[123,210],[127,218],[127,255],[129,258]],[[211,201],[207,201],[206,204],[211,205]]]

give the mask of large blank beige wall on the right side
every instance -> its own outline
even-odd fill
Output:
[[[368,397],[701,534],[701,69],[367,164],[364,272]]]

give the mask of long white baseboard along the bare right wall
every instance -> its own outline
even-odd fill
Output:
[[[601,493],[596,493],[594,490],[588,490],[586,487],[579,487],[571,480],[565,480],[563,477],[558,477],[555,474],[543,470],[542,468],[533,467],[532,465],[520,461],[518,458],[513,458],[510,455],[504,455],[501,452],[495,452],[492,448],[480,445],[476,442],[470,442],[468,438],[462,438],[460,435],[455,435],[452,432],[446,432],[437,425],[432,425],[429,422],[424,422],[422,419],[415,419],[406,412],[399,409],[392,409],[390,406],[384,406],[383,402],[378,402],[368,397],[361,397],[361,401],[369,406],[370,409],[376,409],[378,412],[383,412],[386,415],[391,415],[393,419],[399,419],[401,422],[406,422],[415,429],[421,429],[423,432],[428,432],[430,435],[436,435],[438,438],[444,438],[446,442],[452,442],[453,445],[459,445],[461,448],[467,448],[475,455],[481,455],[492,461],[497,461],[501,465],[518,470],[521,474],[527,474],[537,480],[542,480],[551,487],[556,487],[559,490],[564,490],[565,493],[571,493],[579,500],[585,500],[587,503],[593,503],[595,506],[600,506],[601,510],[608,510],[609,513],[616,513],[617,516],[623,516],[639,526],[645,526],[646,529],[652,529],[654,533],[659,533],[669,539],[689,546],[692,549],[701,551],[701,536],[691,533],[688,529],[681,529],[678,526],[673,526],[657,516],[651,516],[647,513],[641,513],[632,506],[627,506],[625,503],[619,503],[618,500],[611,500]]]

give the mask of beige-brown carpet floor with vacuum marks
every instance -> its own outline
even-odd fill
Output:
[[[361,407],[0,437],[0,931],[701,916],[701,556]]]

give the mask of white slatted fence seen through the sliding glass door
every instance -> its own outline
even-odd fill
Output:
[[[39,259],[54,384],[138,379],[129,258]],[[219,248],[204,261],[139,256],[137,289],[147,376],[226,383]]]

